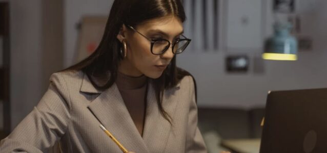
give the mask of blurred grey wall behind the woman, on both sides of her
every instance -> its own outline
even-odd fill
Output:
[[[273,22],[268,9],[271,1],[263,1],[267,3],[260,5],[264,12],[260,22],[262,40],[272,34]],[[10,0],[12,127],[38,103],[48,87],[50,74],[74,63],[78,38],[76,27],[80,19],[85,15],[108,15],[112,2]],[[314,2],[313,9],[300,14],[302,33],[312,38],[313,49],[299,52],[298,61],[263,61],[260,58],[262,48],[224,48],[222,34],[217,50],[202,52],[193,48],[178,55],[178,65],[189,70],[197,81],[199,107],[263,107],[269,90],[326,87],[327,2]],[[224,21],[222,18],[220,22]],[[226,31],[226,27],[222,26],[220,31]],[[195,37],[190,32],[186,36]],[[197,38],[192,39],[192,43],[196,43]],[[225,58],[238,54],[249,57],[249,71],[227,73]]]

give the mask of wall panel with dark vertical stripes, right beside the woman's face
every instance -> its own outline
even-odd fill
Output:
[[[184,1],[187,20],[185,34],[192,39],[190,52],[208,52],[219,48],[220,0]]]

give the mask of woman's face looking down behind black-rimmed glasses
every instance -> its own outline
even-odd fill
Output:
[[[133,28],[150,39],[167,39],[171,43],[183,32],[182,23],[175,16],[151,19]],[[125,40],[127,44],[127,56],[120,62],[118,71],[133,77],[144,74],[149,78],[159,78],[174,57],[172,45],[164,54],[153,55],[151,42],[139,33],[123,25],[117,35],[120,42]]]

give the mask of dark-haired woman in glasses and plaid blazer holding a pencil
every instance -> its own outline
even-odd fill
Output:
[[[176,67],[183,36],[179,0],[115,0],[96,51],[52,74],[33,111],[0,152],[206,152],[197,128],[195,84]]]

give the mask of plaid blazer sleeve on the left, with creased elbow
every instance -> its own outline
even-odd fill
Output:
[[[60,73],[50,77],[45,95],[13,132],[0,143],[0,152],[47,152],[70,122],[70,96]]]

